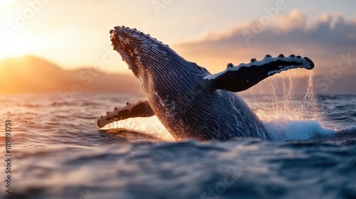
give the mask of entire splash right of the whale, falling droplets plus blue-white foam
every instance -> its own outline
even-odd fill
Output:
[[[271,141],[306,140],[335,134],[335,129],[325,129],[320,123],[313,75],[313,71],[308,71],[303,86],[294,71],[284,72],[283,78],[271,78],[258,88],[257,92],[265,95],[248,97],[248,104],[263,122]]]

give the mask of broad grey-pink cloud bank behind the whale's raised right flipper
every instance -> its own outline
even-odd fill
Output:
[[[323,14],[313,22],[298,10],[271,18],[269,23],[268,20],[261,21],[262,18],[175,47],[184,58],[213,73],[224,70],[226,63],[246,63],[266,54],[308,56],[315,62],[316,74],[328,73],[337,67],[342,54],[351,53],[351,57],[356,58],[355,21],[345,21],[340,15]],[[356,74],[356,67],[350,67],[347,74],[350,73]]]

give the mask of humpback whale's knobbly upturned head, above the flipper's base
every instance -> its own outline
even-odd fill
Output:
[[[205,68],[184,60],[168,45],[157,41],[149,34],[137,31],[136,28],[115,26],[110,34],[114,50],[120,53],[122,60],[138,78],[163,71],[169,73],[170,70],[204,74],[207,72]],[[204,70],[204,72],[199,70]]]

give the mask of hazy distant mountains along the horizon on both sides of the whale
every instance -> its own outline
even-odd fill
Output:
[[[314,91],[319,94],[356,94],[354,75],[342,75],[328,82],[322,75],[314,77]],[[273,83],[274,82],[274,83]],[[265,94],[276,87],[283,92],[283,78],[267,78],[246,90],[247,93]],[[307,77],[293,77],[295,94],[303,93],[308,85]],[[63,70],[42,58],[27,55],[0,60],[0,94],[28,92],[142,92],[140,82],[130,74],[108,74],[93,67]],[[242,92],[244,93],[244,92]]]

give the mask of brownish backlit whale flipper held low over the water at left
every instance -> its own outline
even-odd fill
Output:
[[[151,117],[154,115],[155,112],[153,112],[147,100],[138,100],[136,103],[126,102],[125,106],[120,108],[115,107],[112,112],[106,112],[105,116],[101,116],[98,119],[97,125],[99,128],[103,128],[106,124],[122,119],[130,117]]]

